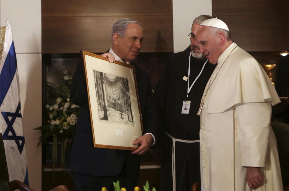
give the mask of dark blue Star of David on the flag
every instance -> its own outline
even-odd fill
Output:
[[[2,111],[1,113],[7,124],[7,129],[3,133],[3,140],[14,140],[21,154],[24,144],[25,144],[24,136],[17,136],[15,130],[13,129],[13,123],[15,122],[16,118],[17,117],[22,118],[22,115],[21,113],[19,113],[19,111],[20,111],[20,102],[17,106],[15,113],[4,112],[4,111]],[[12,117],[11,120],[9,120],[8,117]],[[12,135],[9,135],[9,132],[11,132]],[[20,141],[22,141],[21,144],[20,144]]]

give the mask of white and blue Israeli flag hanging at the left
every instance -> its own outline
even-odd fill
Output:
[[[9,20],[0,62],[0,133],[3,135],[9,181],[20,180],[29,185],[17,61]]]

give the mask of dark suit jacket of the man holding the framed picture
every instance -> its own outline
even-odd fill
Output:
[[[151,102],[151,80],[147,72],[131,62],[135,67],[136,81],[144,125],[144,133],[154,133],[157,125],[156,110]],[[73,75],[70,88],[71,101],[79,105],[79,117],[70,149],[70,169],[93,176],[116,176],[124,164],[127,176],[138,180],[140,156],[132,151],[94,148],[90,124],[89,106],[82,62],[79,62]]]

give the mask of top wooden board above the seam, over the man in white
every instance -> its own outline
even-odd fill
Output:
[[[212,0],[213,15],[288,14],[287,0]]]

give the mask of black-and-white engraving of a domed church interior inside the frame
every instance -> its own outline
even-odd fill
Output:
[[[134,124],[128,80],[94,70],[100,120]]]

